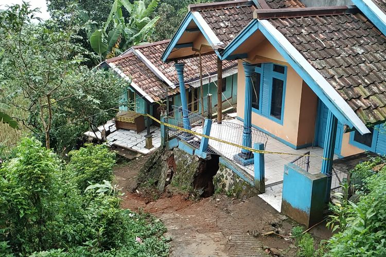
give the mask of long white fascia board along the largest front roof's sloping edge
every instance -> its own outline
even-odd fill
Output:
[[[305,72],[319,85],[323,93],[331,100],[331,102],[339,109],[341,114],[346,117],[354,127],[363,135],[370,133],[369,128],[362,122],[353,109],[347,102],[339,95],[334,87],[316,70],[303,56],[296,50],[296,48],[280,33],[269,21],[258,20],[259,26],[263,26],[276,42],[287,52],[289,57],[298,63]],[[327,106],[328,107],[328,106]]]

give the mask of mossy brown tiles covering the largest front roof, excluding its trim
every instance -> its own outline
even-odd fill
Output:
[[[363,122],[386,120],[386,37],[365,17],[341,14],[269,21]]]

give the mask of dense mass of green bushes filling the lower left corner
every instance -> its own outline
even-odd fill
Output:
[[[106,148],[89,145],[75,151],[71,164],[36,139],[22,139],[14,152],[0,168],[1,256],[168,255],[160,221],[120,209],[116,190],[79,189],[79,176],[89,176],[90,170],[73,170],[75,162],[96,167],[98,156],[102,169],[110,170],[113,154]],[[111,186],[106,183],[111,173],[95,172],[91,177],[97,183]]]

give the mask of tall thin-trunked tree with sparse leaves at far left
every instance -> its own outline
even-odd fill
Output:
[[[87,51],[73,42],[84,29],[76,5],[44,23],[31,23],[35,12],[25,3],[0,12],[0,77],[3,102],[27,114],[16,120],[37,136],[44,135],[49,149],[55,120],[62,122],[58,126],[79,120],[89,126],[100,122],[103,119],[95,117],[102,109],[117,106],[128,85],[111,71],[82,65]],[[59,26],[63,23],[65,28]],[[107,113],[113,115],[103,111],[104,119]]]

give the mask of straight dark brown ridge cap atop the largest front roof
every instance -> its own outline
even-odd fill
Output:
[[[257,9],[253,12],[253,19],[289,18],[303,16],[325,16],[340,14],[356,14],[359,9],[356,6],[329,6],[329,7],[305,7],[284,9]]]

